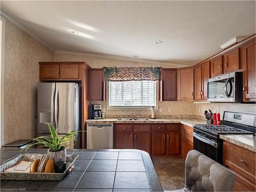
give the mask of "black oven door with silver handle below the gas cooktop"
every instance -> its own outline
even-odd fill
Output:
[[[193,134],[193,148],[200,153],[206,155],[212,160],[222,164],[222,147],[221,143],[217,143],[213,140],[207,139],[200,134]]]

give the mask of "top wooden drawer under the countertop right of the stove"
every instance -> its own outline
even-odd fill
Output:
[[[223,142],[223,163],[234,172],[255,182],[255,153],[245,148]]]

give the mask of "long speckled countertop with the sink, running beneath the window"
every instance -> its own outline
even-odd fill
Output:
[[[182,123],[190,127],[194,127],[195,124],[206,124],[206,120],[202,119],[149,119],[145,121],[136,120],[117,120],[114,119],[88,119],[86,123]]]

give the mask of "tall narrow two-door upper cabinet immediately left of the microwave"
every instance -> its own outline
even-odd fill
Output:
[[[195,67],[195,100],[207,99],[207,85],[210,78],[210,63],[206,61]]]

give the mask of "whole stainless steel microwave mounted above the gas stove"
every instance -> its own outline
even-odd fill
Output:
[[[233,72],[208,80],[207,101],[242,102],[243,73]]]

